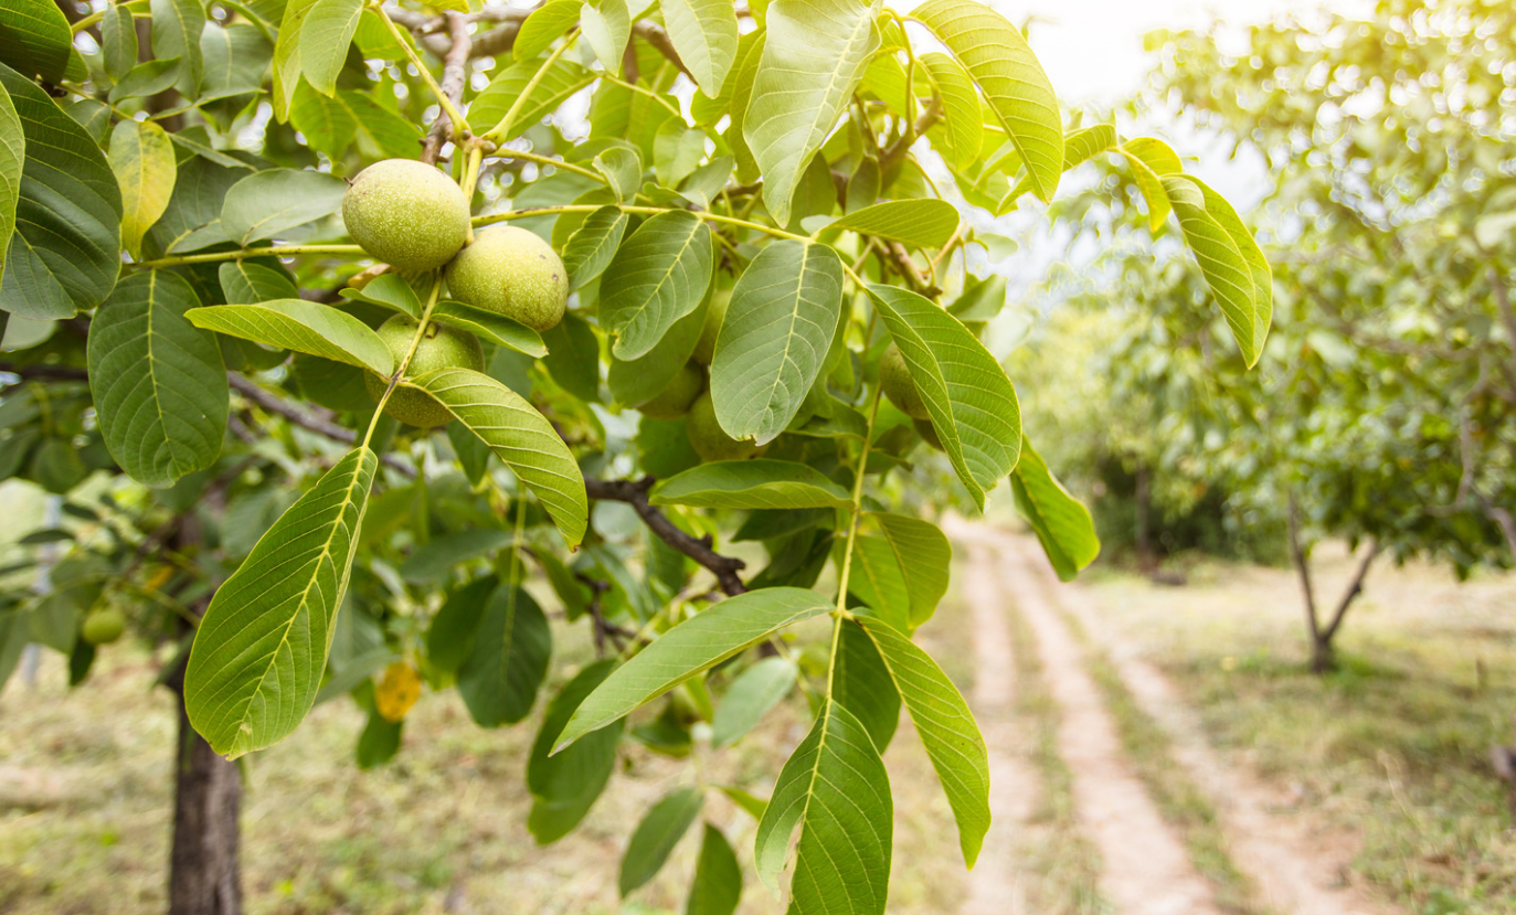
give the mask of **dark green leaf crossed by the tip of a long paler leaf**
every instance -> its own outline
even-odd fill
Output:
[[[532,792],[526,829],[538,845],[556,842],[579,826],[615,770],[615,747],[622,741],[620,721],[587,735],[561,753],[552,753],[553,739],[568,723],[568,717],[614,667],[615,662],[609,659],[585,667],[547,703],[543,727],[537,732],[532,756],[526,762],[526,786]]]

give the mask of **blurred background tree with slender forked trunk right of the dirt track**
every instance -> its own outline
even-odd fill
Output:
[[[1155,268],[1134,242],[1075,283],[1122,327],[1104,330],[1096,385],[1110,394],[1090,408],[1090,427],[1119,435],[1084,464],[1139,456],[1160,468],[1164,504],[1216,489],[1237,527],[1283,529],[1316,670],[1380,553],[1467,574],[1516,550],[1513,24],[1507,5],[1395,0],[1366,21],[1251,29],[1236,55],[1219,27],[1155,35],[1161,65],[1137,111],[1216,130],[1272,176],[1255,218],[1280,332],[1242,371],[1196,308],[1198,271]],[[1131,239],[1137,195],[1113,173],[1067,215]],[[1310,577],[1320,536],[1363,544],[1330,603]]]

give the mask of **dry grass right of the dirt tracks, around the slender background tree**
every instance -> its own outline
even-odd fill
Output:
[[[1349,559],[1326,548],[1317,565],[1334,600]],[[1286,804],[1361,836],[1354,870],[1378,892],[1428,915],[1516,909],[1516,833],[1487,762],[1516,712],[1516,577],[1458,585],[1425,565],[1377,568],[1328,677],[1304,671],[1287,570],[1207,562],[1186,588],[1102,573],[1092,592],[1189,694],[1214,742]]]

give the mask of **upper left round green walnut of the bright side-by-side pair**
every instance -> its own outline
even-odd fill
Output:
[[[412,159],[358,173],[343,197],[347,233],[403,273],[437,270],[468,241],[468,198],[446,174]]]

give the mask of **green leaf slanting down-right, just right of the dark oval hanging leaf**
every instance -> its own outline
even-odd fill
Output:
[[[984,344],[937,304],[894,286],[870,285],[869,297],[905,356],[954,471],[984,511],[985,492],[1020,456],[1016,388]]]

